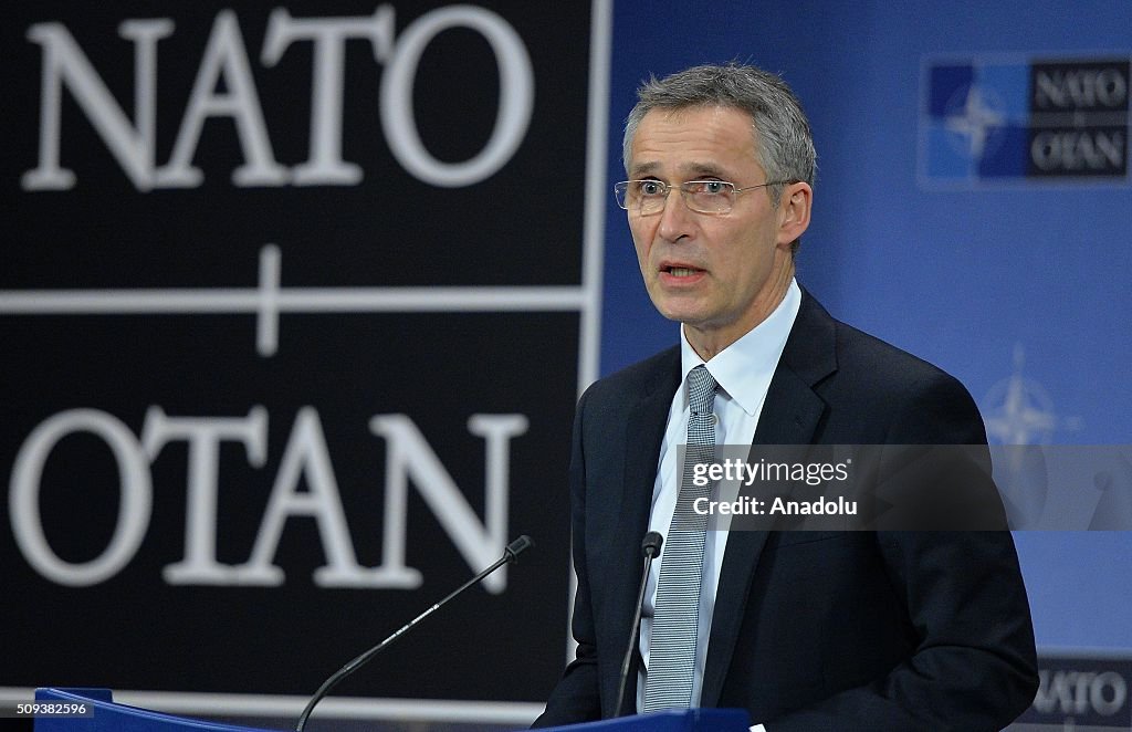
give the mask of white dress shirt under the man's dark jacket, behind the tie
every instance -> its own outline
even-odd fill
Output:
[[[659,531],[662,536],[667,535],[672,521],[672,513],[676,510],[676,497],[679,493],[680,475],[683,474],[681,466],[677,465],[677,446],[687,443],[688,372],[704,364],[719,384],[714,405],[715,444],[749,445],[755,436],[755,427],[758,425],[758,415],[762,411],[763,401],[766,399],[771,377],[778,367],[779,358],[782,356],[782,349],[786,348],[786,341],[790,335],[790,329],[794,327],[794,321],[800,306],[801,290],[796,281],[791,281],[786,297],[766,320],[706,363],[688,344],[681,327],[681,382],[676,394],[672,395],[672,406],[668,411],[668,426],[660,445],[660,462],[652,493],[652,510],[649,516],[650,531]],[[732,501],[737,491],[736,484],[717,484],[712,487],[712,500]],[[719,587],[720,569],[723,565],[729,525],[729,516],[712,514],[707,519],[707,541],[704,545],[704,569],[700,589],[700,625],[695,639],[696,662],[692,682],[693,707],[700,706],[700,696],[703,689],[707,639],[711,636],[712,611],[715,607],[715,591]],[[641,620],[641,657],[644,659],[644,664],[637,675],[638,710],[644,707],[657,580],[660,578],[660,567],[663,561],[664,552],[661,548],[660,556],[652,563],[649,585],[645,589],[644,613]],[[753,729],[757,730],[758,727]]]

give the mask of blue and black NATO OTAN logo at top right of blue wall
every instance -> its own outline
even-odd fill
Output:
[[[925,60],[920,180],[1129,181],[1129,58]]]

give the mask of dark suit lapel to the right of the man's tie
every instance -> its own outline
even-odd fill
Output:
[[[834,346],[833,320],[804,290],[798,317],[758,416],[754,444],[813,442],[825,412],[825,402],[814,392],[813,385],[837,369]],[[767,536],[767,531],[735,531],[728,536],[712,614],[701,706],[713,707],[719,703],[743,624],[751,581]]]

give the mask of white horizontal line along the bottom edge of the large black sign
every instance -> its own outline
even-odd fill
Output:
[[[27,701],[33,689],[0,687],[0,700]],[[114,691],[114,703],[166,714],[299,717],[309,699],[268,693],[205,693],[194,691]],[[460,701],[452,699],[323,699],[314,718],[386,720],[404,722],[472,722],[526,726],[542,713],[530,701]]]

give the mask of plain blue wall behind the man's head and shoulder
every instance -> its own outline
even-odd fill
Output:
[[[955,374],[988,419],[1003,417],[1009,386],[1023,388],[1046,427],[992,428],[994,441],[1127,444],[1126,172],[936,175],[950,143],[938,133],[933,147],[924,100],[931,69],[954,63],[981,75],[992,110],[1009,117],[1027,101],[1011,93],[1024,94],[1019,80],[1037,61],[1130,57],[1126,1],[800,2],[789,14],[762,2],[617,2],[609,180],[624,177],[621,120],[650,73],[731,59],[780,73],[806,107],[818,152],[799,281],[834,315]],[[1126,146],[1126,119],[1123,128]],[[988,137],[985,154],[1010,144]],[[604,288],[602,373],[675,342],[676,326],[641,284],[612,196]],[[1040,645],[1132,648],[1132,534],[1017,539]]]

